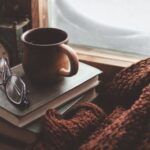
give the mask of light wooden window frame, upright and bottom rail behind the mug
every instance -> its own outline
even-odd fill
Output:
[[[48,27],[48,0],[31,0],[32,27]],[[116,67],[127,67],[144,59],[139,54],[117,52],[104,48],[93,48],[84,45],[70,44],[76,51],[81,61],[103,64]]]

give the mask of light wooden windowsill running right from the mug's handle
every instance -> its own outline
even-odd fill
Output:
[[[75,44],[71,44],[71,46],[76,50],[79,59],[82,61],[116,67],[128,67],[131,64],[146,58],[145,56],[138,54],[123,53],[102,48],[92,48]]]

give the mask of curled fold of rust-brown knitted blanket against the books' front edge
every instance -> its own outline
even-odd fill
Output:
[[[74,108],[66,118],[55,110],[48,110],[42,140],[46,149],[73,150],[96,130],[105,118],[102,109],[92,103]]]

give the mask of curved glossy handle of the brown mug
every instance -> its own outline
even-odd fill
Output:
[[[66,44],[61,44],[59,45],[59,47],[61,48],[62,52],[65,53],[70,61],[70,69],[65,69],[65,68],[61,68],[58,73],[59,75],[62,76],[73,76],[74,74],[76,74],[78,72],[78,68],[79,68],[79,60],[78,60],[78,56],[76,54],[76,52],[68,45]]]

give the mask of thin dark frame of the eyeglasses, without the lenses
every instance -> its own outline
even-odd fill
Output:
[[[4,89],[5,89],[5,94],[6,94],[7,98],[9,99],[9,101],[10,101],[11,103],[15,104],[16,106],[20,106],[20,108],[26,108],[26,107],[28,107],[29,104],[30,104],[30,101],[29,101],[28,98],[27,98],[28,91],[27,91],[27,89],[26,89],[26,85],[25,85],[24,81],[21,79],[21,77],[19,77],[19,76],[13,74],[13,73],[11,72],[10,67],[9,67],[9,65],[8,65],[8,59],[7,59],[7,58],[0,58],[0,61],[1,61],[2,59],[5,61],[4,68],[6,68],[6,65],[7,65],[7,68],[6,68],[6,69],[8,69],[8,71],[9,71],[9,73],[10,73],[10,75],[9,75],[8,77],[5,77],[5,76],[7,75],[7,70],[4,69],[4,71],[2,71],[2,76],[3,76],[2,83],[0,83],[0,85],[3,85],[3,87],[4,87]],[[9,79],[12,78],[12,77],[16,77],[16,78],[22,83],[22,85],[23,85],[23,92],[22,92],[22,94],[21,94],[21,92],[20,92],[20,94],[21,94],[20,102],[17,102],[17,101],[15,101],[15,100],[13,100],[13,99],[8,95],[8,93],[7,93],[7,89],[6,89],[7,86],[6,86],[6,85],[7,85],[7,82],[9,81]]]

